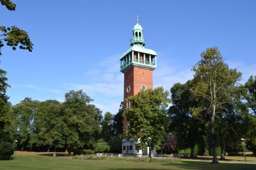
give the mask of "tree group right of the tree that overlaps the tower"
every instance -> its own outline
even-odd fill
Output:
[[[243,147],[256,155],[256,76],[241,84],[242,74],[229,69],[220,51],[208,48],[193,66],[194,77],[171,88],[168,133],[164,148],[189,148],[191,154],[238,154]]]

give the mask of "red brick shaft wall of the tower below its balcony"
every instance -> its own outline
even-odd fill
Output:
[[[126,109],[125,99],[129,96],[137,95],[141,91],[141,86],[144,85],[147,89],[153,88],[153,71],[143,67],[132,66],[125,73],[125,83],[123,89],[123,109]],[[127,87],[130,86],[130,92],[127,92]],[[123,138],[126,138],[126,127],[129,124],[126,117],[123,117]]]

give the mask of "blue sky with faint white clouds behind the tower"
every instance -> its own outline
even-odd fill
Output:
[[[24,97],[64,101],[84,90],[103,112],[117,113],[123,100],[119,57],[129,48],[139,15],[146,48],[158,53],[154,87],[170,90],[191,79],[206,48],[218,46],[241,83],[256,75],[256,1],[13,0],[0,6],[0,25],[26,30],[32,53],[2,48],[12,104]]]

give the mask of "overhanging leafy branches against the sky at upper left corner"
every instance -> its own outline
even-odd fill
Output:
[[[10,0],[0,0],[3,6],[10,11],[14,11],[16,8],[15,3],[11,2]],[[16,46],[19,46],[20,49],[26,49],[29,52],[32,52],[33,45],[30,41],[30,37],[28,36],[27,32],[17,28],[16,26],[5,27],[0,25],[0,55],[1,48],[5,45],[3,42],[6,42],[7,46],[11,46],[13,50],[16,49]]]

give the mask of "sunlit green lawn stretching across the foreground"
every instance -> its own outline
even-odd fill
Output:
[[[17,155],[13,160],[1,160],[2,169],[256,169],[256,164],[211,164],[207,162],[182,162],[172,164],[134,163],[110,160],[77,160],[42,155]]]

